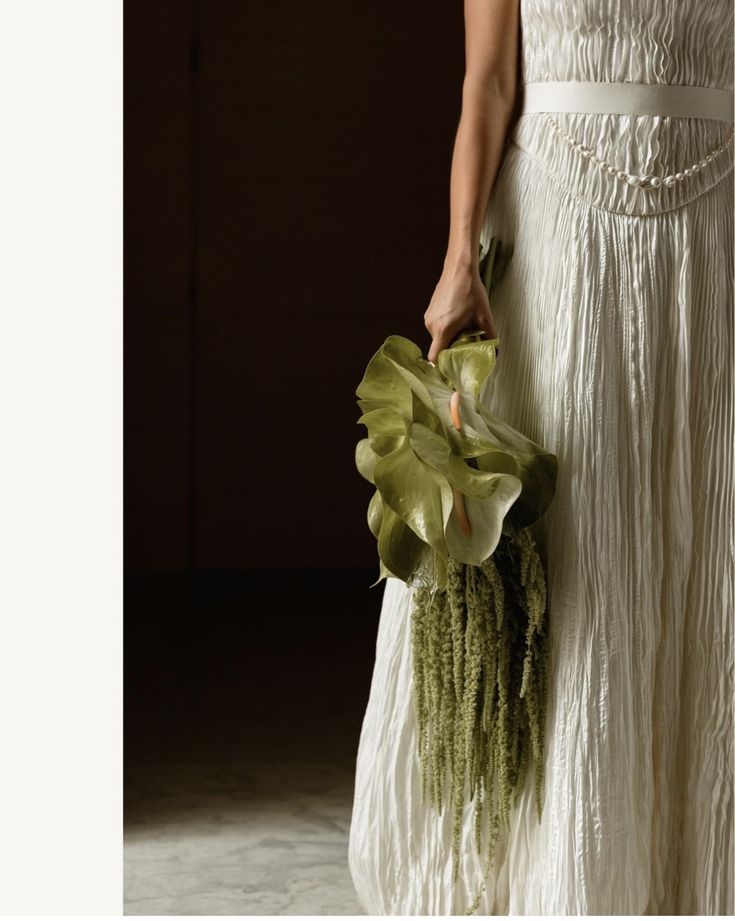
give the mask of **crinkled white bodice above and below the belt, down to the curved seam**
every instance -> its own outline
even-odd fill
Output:
[[[668,83],[733,89],[732,0],[520,0],[521,81]],[[520,88],[522,91],[522,87]],[[708,118],[526,113],[511,139],[567,192],[629,215],[678,208],[733,168],[733,125]],[[642,191],[565,146],[558,129],[617,170],[683,173],[725,143],[706,167],[671,188]]]

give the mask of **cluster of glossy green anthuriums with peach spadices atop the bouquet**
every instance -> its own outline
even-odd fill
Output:
[[[493,240],[481,262],[486,285],[498,251]],[[480,565],[504,529],[532,524],[553,497],[554,455],[479,402],[499,342],[483,336],[465,331],[436,365],[409,339],[389,336],[357,388],[367,437],[355,462],[376,487],[368,524],[378,581],[408,582],[429,558],[439,572],[450,557]]]

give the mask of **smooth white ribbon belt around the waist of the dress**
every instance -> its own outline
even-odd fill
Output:
[[[593,83],[578,80],[526,83],[521,115],[528,112],[599,112],[735,121],[732,90],[672,83]]]

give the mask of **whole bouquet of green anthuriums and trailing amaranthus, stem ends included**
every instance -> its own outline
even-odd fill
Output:
[[[491,240],[480,262],[488,293],[511,252]],[[557,459],[483,405],[499,342],[468,330],[434,365],[410,340],[389,336],[357,388],[367,437],[355,459],[375,486],[367,516],[380,566],[373,584],[394,577],[413,589],[423,795],[439,814],[445,805],[454,810],[455,882],[467,797],[475,805],[478,854],[487,841],[485,878],[531,761],[539,821],[543,808],[548,617],[541,526]]]

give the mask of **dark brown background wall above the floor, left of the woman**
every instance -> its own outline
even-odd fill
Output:
[[[387,335],[428,346],[461,17],[125,4],[129,572],[377,569],[354,391]]]

